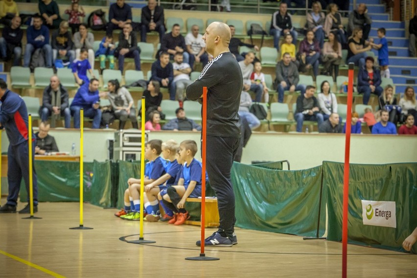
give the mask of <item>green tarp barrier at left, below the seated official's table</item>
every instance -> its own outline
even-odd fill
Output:
[[[35,169],[38,178],[39,202],[79,202],[80,163],[37,161]],[[91,200],[93,162],[84,162],[84,201]],[[22,180],[21,202],[27,202],[27,193]]]

